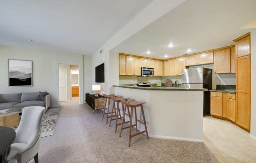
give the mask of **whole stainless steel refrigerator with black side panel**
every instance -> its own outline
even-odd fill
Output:
[[[185,88],[212,89],[212,69],[204,67],[183,69],[181,74],[182,85]],[[210,92],[204,91],[203,116],[210,114]]]

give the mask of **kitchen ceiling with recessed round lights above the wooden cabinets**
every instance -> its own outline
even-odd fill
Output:
[[[255,29],[255,8],[256,0],[187,0],[113,51],[165,59],[234,45]]]

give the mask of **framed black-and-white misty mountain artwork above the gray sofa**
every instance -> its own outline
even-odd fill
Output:
[[[33,62],[9,59],[9,87],[31,87]]]

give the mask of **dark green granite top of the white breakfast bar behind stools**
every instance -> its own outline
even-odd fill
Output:
[[[182,87],[137,87],[133,85],[113,85],[113,87],[122,87],[122,88],[130,88],[130,89],[141,89],[141,90],[149,90],[149,91],[208,91],[208,89],[197,89],[197,88],[182,88]]]

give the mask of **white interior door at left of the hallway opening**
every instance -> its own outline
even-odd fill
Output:
[[[59,101],[67,101],[67,68],[59,68]]]

